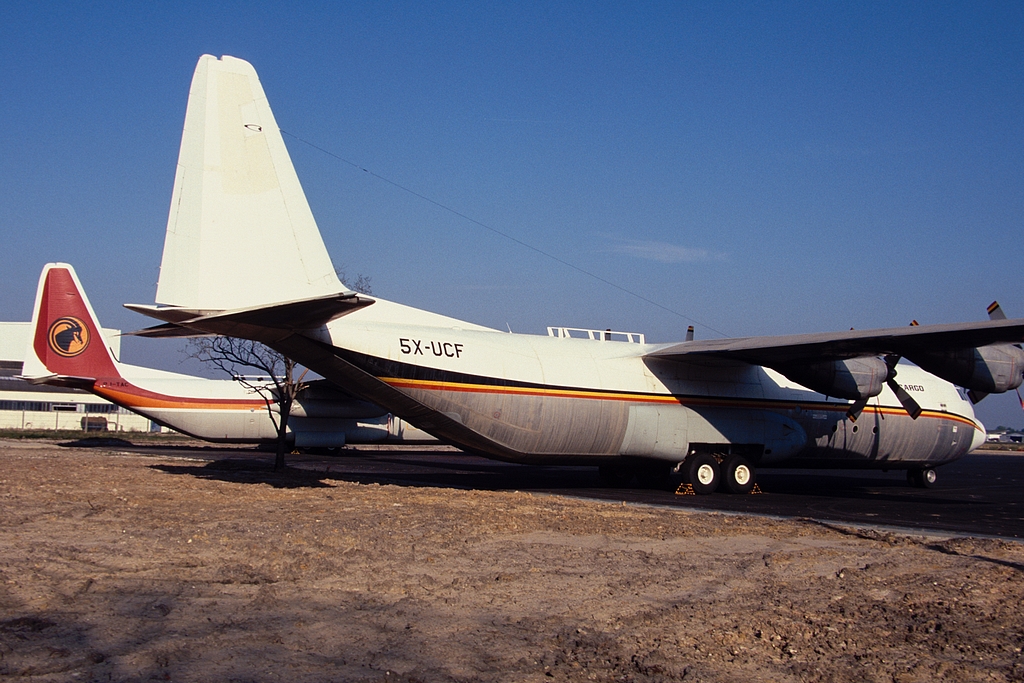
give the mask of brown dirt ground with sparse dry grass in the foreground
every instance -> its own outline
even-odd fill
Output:
[[[0,441],[0,677],[1024,680],[1024,546]]]

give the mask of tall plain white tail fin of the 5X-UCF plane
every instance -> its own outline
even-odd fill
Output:
[[[345,291],[252,65],[200,57],[157,303],[230,309]]]

